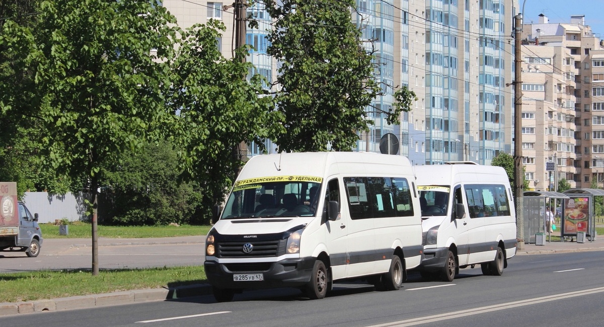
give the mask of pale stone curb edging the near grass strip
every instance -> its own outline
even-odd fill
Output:
[[[61,297],[16,303],[0,303],[0,317],[15,314],[41,313],[94,308],[95,306],[124,305],[157,300],[182,299],[184,297],[212,294],[210,284],[184,285],[172,288],[153,288],[148,290],[120,291],[106,294]]]

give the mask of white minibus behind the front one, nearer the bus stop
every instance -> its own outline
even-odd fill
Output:
[[[416,166],[422,206],[425,279],[452,281],[460,268],[480,264],[500,276],[516,254],[516,211],[501,167],[472,162]]]

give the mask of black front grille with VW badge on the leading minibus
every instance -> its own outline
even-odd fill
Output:
[[[220,242],[217,244],[218,258],[266,258],[285,253],[287,240],[251,241],[251,242]],[[252,244],[252,252],[243,252],[243,244]]]

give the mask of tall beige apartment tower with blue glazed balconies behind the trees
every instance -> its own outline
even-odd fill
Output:
[[[181,27],[221,19],[219,40],[225,57],[233,48],[231,2],[164,0]],[[376,50],[377,78],[384,95],[367,108],[369,133],[359,135],[356,151],[379,152],[382,136],[396,135],[399,154],[415,165],[471,160],[489,164],[500,152],[512,153],[513,17],[518,0],[357,0],[352,19],[362,40]],[[254,45],[248,61],[274,80],[277,63],[266,56],[264,36],[270,17],[263,4],[248,8],[260,21],[248,28]],[[508,85],[506,85],[508,84]],[[389,125],[380,109],[392,105],[396,87],[408,86],[419,98],[400,125]],[[249,154],[257,154],[254,146]],[[269,146],[269,151],[274,147]]]

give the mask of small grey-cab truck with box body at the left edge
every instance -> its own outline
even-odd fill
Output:
[[[0,182],[0,250],[36,257],[43,241],[37,220],[38,214],[17,200],[17,183]]]

